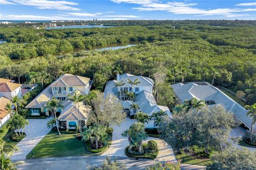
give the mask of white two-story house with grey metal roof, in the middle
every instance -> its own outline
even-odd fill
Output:
[[[138,83],[133,85],[129,83],[130,80],[131,82],[137,80]],[[117,86],[117,82],[123,82],[123,85]],[[151,115],[159,111],[164,111],[168,115],[170,115],[171,112],[167,106],[157,105],[156,100],[153,96],[153,87],[154,81],[150,78],[139,75],[132,75],[128,73],[122,75],[117,74],[116,80],[111,80],[106,83],[104,93],[105,95],[113,94],[121,99],[121,103],[127,116],[134,115],[138,112],[143,112]],[[134,92],[135,99],[131,100],[129,97],[127,97],[127,92]],[[139,109],[133,108],[133,104],[137,104],[139,106]],[[155,125],[153,120],[149,121],[149,123],[146,124],[146,128],[154,127]]]

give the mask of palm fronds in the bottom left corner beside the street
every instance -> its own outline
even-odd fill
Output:
[[[22,161],[12,163],[12,160],[10,157],[11,157],[10,154],[5,155],[3,152],[0,154],[0,169],[1,170],[16,170],[17,165],[24,163]]]

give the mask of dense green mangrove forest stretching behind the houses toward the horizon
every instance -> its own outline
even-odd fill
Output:
[[[243,91],[246,104],[251,105],[256,100],[255,28],[204,25],[181,25],[175,29],[170,25],[52,30],[1,28],[1,38],[17,39],[19,43],[0,45],[0,76],[17,82],[20,79],[22,83],[30,81],[30,72],[44,71],[50,75],[45,83],[48,84],[60,74],[71,73],[91,79],[94,76],[97,86],[102,87],[107,79],[114,78],[118,68],[123,73],[142,74],[160,82],[164,78],[164,83],[213,82],[234,92]],[[50,55],[131,41],[140,44],[120,50],[66,54],[61,58]],[[14,63],[9,58],[33,59]],[[22,74],[18,75],[17,70]],[[161,91],[161,86],[155,90]],[[159,102],[160,95],[156,96],[160,97]],[[171,104],[168,101],[167,105]]]

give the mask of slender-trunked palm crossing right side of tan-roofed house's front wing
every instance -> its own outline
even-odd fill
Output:
[[[79,109],[79,102],[84,100],[84,96],[81,94],[78,94],[78,91],[75,91],[74,95],[68,95],[68,100],[73,101],[76,107],[76,113],[77,113],[77,118],[78,118],[78,130],[80,134],[82,134],[82,125],[80,122],[80,109]],[[77,111],[78,108],[78,111]]]

